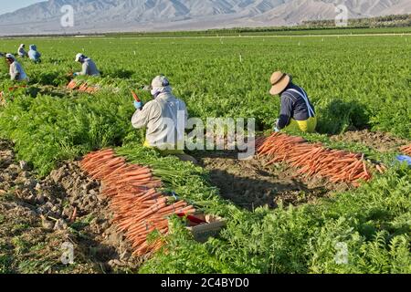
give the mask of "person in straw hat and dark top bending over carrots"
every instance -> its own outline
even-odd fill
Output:
[[[317,127],[317,117],[304,89],[292,82],[290,75],[280,71],[271,76],[271,95],[279,95],[281,110],[274,130],[301,130],[314,132]]]

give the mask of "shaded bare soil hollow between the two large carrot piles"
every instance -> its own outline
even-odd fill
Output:
[[[238,206],[253,210],[279,202],[289,205],[312,203],[328,196],[332,190],[347,189],[348,185],[335,185],[324,180],[303,180],[286,165],[266,166],[263,160],[238,160],[235,151],[198,152],[195,158],[210,172],[211,183],[221,195]]]

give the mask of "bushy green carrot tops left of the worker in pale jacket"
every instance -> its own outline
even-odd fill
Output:
[[[92,150],[121,145],[135,134],[128,119],[132,108],[119,95],[56,99],[22,96],[0,111],[0,134],[16,142],[18,157],[46,175],[59,161]]]

